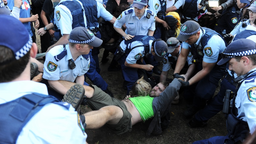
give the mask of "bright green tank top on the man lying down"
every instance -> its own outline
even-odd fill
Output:
[[[152,118],[154,116],[154,111],[153,111],[153,99],[154,97],[150,96],[137,96],[137,97],[131,97],[129,98],[130,101],[135,105],[137,110],[140,113],[140,117],[142,120],[145,122],[149,118]]]

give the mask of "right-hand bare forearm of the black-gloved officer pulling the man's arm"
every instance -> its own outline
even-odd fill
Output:
[[[192,85],[192,84],[198,82],[199,80],[203,79],[203,77],[208,75],[211,72],[211,70],[213,69],[213,67],[215,66],[215,64],[216,63],[206,63],[203,61],[203,64],[202,64],[203,69],[200,70],[199,72],[197,72],[197,74],[189,80],[189,85]]]

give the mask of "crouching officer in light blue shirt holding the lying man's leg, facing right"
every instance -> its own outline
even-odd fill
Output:
[[[69,35],[68,45],[53,47],[46,54],[43,78],[49,86],[64,95],[67,89],[58,80],[84,84],[84,74],[89,70],[90,49],[98,47],[102,40],[84,27],[74,28]]]

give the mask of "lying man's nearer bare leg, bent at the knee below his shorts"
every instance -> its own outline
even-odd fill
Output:
[[[83,114],[85,116],[86,129],[97,129],[105,124],[117,124],[124,113],[114,105],[109,105]]]

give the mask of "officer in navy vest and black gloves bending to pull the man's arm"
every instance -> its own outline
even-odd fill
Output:
[[[225,74],[225,65],[218,66],[216,63],[220,60],[220,53],[225,50],[226,43],[220,34],[208,28],[201,28],[193,20],[188,20],[181,26],[177,39],[183,43],[174,77],[180,77],[178,73],[184,67],[189,52],[195,61],[198,61],[195,65],[197,73],[188,81],[182,82],[184,86],[189,86],[190,91],[195,92],[192,107],[184,111],[185,117],[189,118],[212,98],[220,78]],[[196,88],[192,88],[193,84],[196,84]],[[187,94],[191,97],[191,92]]]

